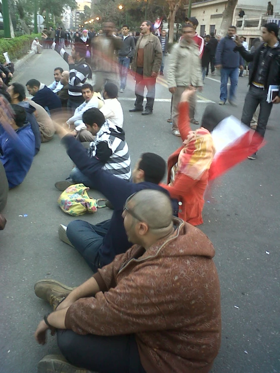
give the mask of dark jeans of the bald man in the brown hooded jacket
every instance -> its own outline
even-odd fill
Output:
[[[58,347],[73,365],[98,373],[145,373],[133,334],[85,336],[72,330],[57,331]]]

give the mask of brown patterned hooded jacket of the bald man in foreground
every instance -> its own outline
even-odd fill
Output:
[[[101,291],[73,303],[65,326],[81,335],[135,334],[148,373],[207,373],[221,339],[215,250],[199,229],[173,224],[147,251],[134,245],[98,270]]]

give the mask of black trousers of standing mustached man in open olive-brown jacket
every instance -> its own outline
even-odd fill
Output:
[[[144,88],[147,87],[147,104],[146,109],[153,111],[155,95],[156,95],[156,79],[155,78],[144,78],[143,67],[137,67],[136,69],[136,83],[135,83],[135,96],[136,100],[134,106],[136,109],[143,109],[144,100]]]

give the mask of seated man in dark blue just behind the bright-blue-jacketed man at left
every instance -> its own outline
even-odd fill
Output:
[[[41,134],[39,124],[35,117],[35,108],[29,102],[25,101],[25,88],[20,83],[13,83],[8,87],[7,92],[11,96],[11,103],[22,106],[26,113],[26,120],[31,125],[32,132],[35,136],[35,154],[38,153],[41,146]],[[31,101],[33,102],[33,101]]]

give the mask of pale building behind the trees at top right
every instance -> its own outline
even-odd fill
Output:
[[[279,18],[280,0],[271,0],[271,4],[273,5],[274,14],[273,17],[267,17],[265,16],[267,10],[266,0],[238,0],[231,24],[237,27],[237,33],[246,38],[249,46],[255,37],[260,36],[261,26],[269,19],[275,18],[277,20]],[[192,5],[192,17],[198,19],[197,32],[201,36],[205,35],[205,33],[214,32],[216,34],[218,32],[222,22],[222,13],[226,5],[226,0],[205,0]],[[187,10],[188,6],[185,8]],[[245,12],[243,18],[238,17],[240,8]]]

